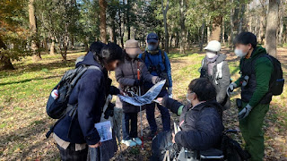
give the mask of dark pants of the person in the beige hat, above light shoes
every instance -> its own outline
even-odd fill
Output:
[[[129,121],[131,130],[129,131]],[[124,113],[122,117],[123,140],[137,138],[137,113]]]

